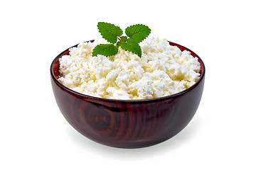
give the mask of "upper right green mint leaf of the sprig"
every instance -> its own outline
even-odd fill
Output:
[[[150,32],[151,29],[148,26],[144,26],[142,24],[129,26],[125,29],[126,35],[136,42],[142,42],[142,40],[149,36]]]

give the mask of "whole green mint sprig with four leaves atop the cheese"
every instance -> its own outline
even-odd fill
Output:
[[[142,57],[142,49],[139,46],[139,42],[142,42],[151,32],[148,26],[142,24],[127,27],[125,29],[127,36],[121,36],[123,34],[121,28],[114,26],[112,23],[99,22],[97,28],[102,38],[105,38],[110,44],[97,45],[93,49],[92,57],[97,55],[105,55],[106,57],[116,55],[118,47]]]

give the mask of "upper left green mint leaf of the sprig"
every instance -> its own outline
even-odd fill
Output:
[[[117,42],[117,37],[123,34],[121,28],[114,26],[112,23],[99,22],[97,28],[99,29],[102,38],[105,38],[110,43]]]

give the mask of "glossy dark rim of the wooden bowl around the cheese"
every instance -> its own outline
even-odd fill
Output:
[[[95,40],[88,40],[88,41],[85,41],[85,42],[94,42]],[[188,50],[189,52],[193,52],[192,50],[188,49],[187,47],[184,47],[183,45],[179,45],[175,42],[171,42],[169,40],[167,40],[169,42],[169,45],[173,45],[173,46],[180,46],[180,47],[183,47],[185,48],[186,50]],[[203,78],[205,77],[205,74],[206,74],[206,67],[205,67],[205,64],[203,63],[203,60],[201,60],[201,57],[199,57],[195,52],[193,52],[194,55],[196,55],[196,57],[198,58],[199,62],[201,63],[201,66],[203,66],[203,68],[201,68],[202,70],[202,73],[201,73],[201,76],[200,78],[198,79],[198,81],[196,81],[195,84],[193,84],[192,86],[190,86],[188,89],[185,89],[183,91],[179,91],[178,93],[176,94],[171,94],[169,96],[163,96],[163,97],[159,97],[159,98],[146,98],[146,99],[131,99],[131,100],[122,100],[122,99],[113,99],[113,98],[99,98],[99,97],[95,97],[95,96],[89,96],[89,95],[86,95],[86,94],[80,94],[78,91],[73,91],[72,89],[69,89],[68,87],[64,86],[63,84],[60,83],[60,81],[58,81],[58,79],[56,79],[54,73],[53,73],[53,66],[55,64],[55,62],[60,58],[61,55],[63,55],[64,52],[67,52],[68,50],[70,50],[70,48],[73,48],[73,47],[77,47],[79,44],[77,45],[73,45],[72,47],[69,47],[68,49],[64,50],[63,52],[61,52],[57,57],[55,57],[55,59],[53,60],[53,62],[50,64],[50,75],[51,77],[54,79],[54,81],[59,85],[61,86],[63,89],[65,89],[66,91],[69,91],[69,94],[75,94],[76,97],[79,97],[79,98],[88,98],[88,99],[92,99],[92,100],[98,100],[98,101],[107,101],[107,102],[116,102],[116,101],[119,101],[119,102],[129,102],[129,103],[137,103],[137,102],[154,102],[154,101],[164,101],[164,100],[168,100],[168,99],[171,99],[171,98],[177,98],[178,96],[182,96],[183,94],[186,94],[188,93],[188,91],[191,91],[192,89],[194,89],[196,86],[198,86],[198,84],[200,84],[200,82],[203,80]],[[194,56],[193,56],[194,57]]]

